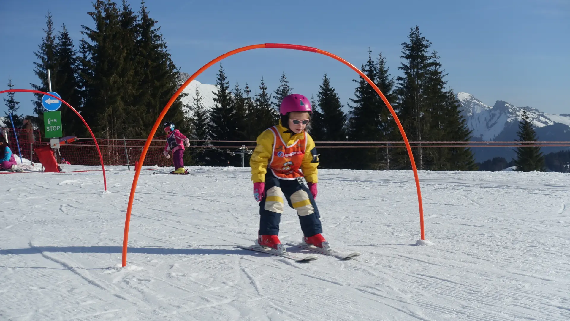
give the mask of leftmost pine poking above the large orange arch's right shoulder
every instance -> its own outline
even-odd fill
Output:
[[[361,70],[374,84],[378,82],[378,66],[372,59],[372,51],[368,50],[368,61]],[[382,131],[384,125],[380,118],[385,109],[384,102],[364,78],[354,81],[358,86],[355,89],[356,99],[350,99],[355,105],[349,105],[349,141],[384,141],[386,134]],[[383,156],[376,149],[354,149],[349,154],[349,166],[355,169],[382,169],[385,163]]]

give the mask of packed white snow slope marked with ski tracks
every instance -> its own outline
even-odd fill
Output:
[[[324,236],[363,254],[303,264],[235,247],[257,234],[249,168],[190,170],[142,171],[123,268],[132,171],[107,194],[100,171],[0,175],[0,320],[570,319],[570,174],[420,172],[415,246],[412,172],[323,170]],[[300,240],[294,210],[281,228]]]

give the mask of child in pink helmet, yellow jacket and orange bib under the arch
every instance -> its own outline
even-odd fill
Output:
[[[307,97],[288,95],[281,102],[279,125],[263,131],[257,138],[250,166],[255,200],[260,202],[257,240],[260,246],[284,251],[277,236],[284,195],[299,215],[303,241],[329,248],[321,235],[323,230],[315,204],[319,157],[315,142],[306,131],[311,113]],[[303,184],[303,177],[308,188]]]

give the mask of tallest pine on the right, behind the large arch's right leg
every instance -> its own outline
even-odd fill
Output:
[[[430,67],[429,48],[431,42],[422,37],[420,27],[410,29],[409,43],[402,43],[402,55],[406,63],[401,63],[398,69],[404,72],[404,77],[397,77],[398,82],[398,118],[404,127],[410,141],[422,142],[426,136],[425,111],[425,82],[426,73]],[[403,154],[402,154],[403,155]],[[407,155],[406,155],[407,157]],[[398,160],[400,168],[410,168],[409,159]],[[414,158],[418,169],[424,169],[424,150],[414,149]]]

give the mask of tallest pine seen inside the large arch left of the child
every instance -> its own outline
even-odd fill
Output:
[[[217,74],[217,93],[214,93],[215,106],[210,110],[210,136],[213,141],[233,141],[235,140],[234,125],[234,104],[229,90],[230,85],[222,64],[219,65]],[[214,142],[214,146],[223,146],[227,143]],[[230,155],[220,153],[213,158],[213,164],[217,166],[225,166],[230,160]]]

